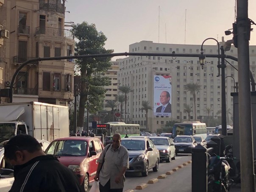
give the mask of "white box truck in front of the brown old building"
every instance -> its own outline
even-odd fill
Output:
[[[49,142],[69,136],[68,107],[39,102],[0,104],[0,143],[17,134]]]

